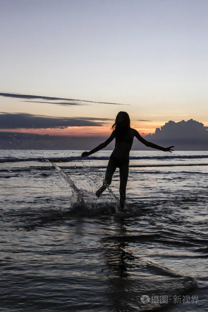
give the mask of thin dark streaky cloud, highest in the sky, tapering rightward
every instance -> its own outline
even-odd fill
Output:
[[[19,94],[19,93],[5,93],[1,92],[0,96],[5,96],[5,97],[11,97],[11,98],[17,98],[17,99],[27,99],[27,100],[32,100],[32,99],[41,99],[41,100],[46,100],[46,102],[39,102],[39,101],[29,101],[29,102],[34,102],[34,103],[48,103],[48,104],[57,104],[57,105],[86,105],[87,103],[98,103],[98,104],[113,104],[113,105],[130,105],[130,104],[121,104],[121,103],[110,103],[110,102],[96,102],[96,101],[88,101],[88,100],[77,100],[77,99],[65,99],[65,98],[60,98],[60,97],[51,97],[51,96],[40,96],[40,95],[26,95],[26,94]],[[48,102],[48,100],[53,100],[53,101],[60,101],[61,102]],[[63,102],[67,101],[66,103]]]

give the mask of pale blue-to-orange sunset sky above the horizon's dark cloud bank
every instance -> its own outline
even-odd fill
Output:
[[[207,0],[0,0],[0,132],[108,137],[120,110],[142,135],[207,127],[207,12]]]

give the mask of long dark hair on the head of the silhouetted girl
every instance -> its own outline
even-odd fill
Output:
[[[118,122],[118,119],[122,118],[122,122]],[[124,134],[128,132],[130,128],[130,118],[127,112],[120,111],[115,119],[111,129],[115,130],[116,138],[121,139]]]

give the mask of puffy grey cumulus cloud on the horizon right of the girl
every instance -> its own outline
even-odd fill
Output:
[[[200,149],[208,148],[208,127],[196,120],[182,120],[179,122],[168,121],[155,133],[148,134],[145,139],[159,145],[175,145],[176,149]]]

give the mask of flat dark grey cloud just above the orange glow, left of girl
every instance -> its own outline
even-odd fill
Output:
[[[94,120],[101,120],[94,121]],[[67,128],[67,127],[82,127],[82,126],[96,126],[102,127],[105,123],[105,118],[96,119],[89,117],[49,117],[39,116],[26,113],[1,113],[0,114],[0,129],[39,129],[39,128]]]

